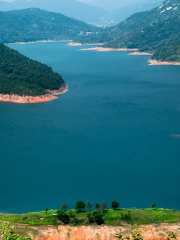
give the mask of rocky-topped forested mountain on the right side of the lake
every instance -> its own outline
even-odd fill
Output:
[[[180,2],[165,0],[151,11],[136,13],[119,25],[81,42],[104,42],[105,47],[139,48],[159,60],[180,61]]]

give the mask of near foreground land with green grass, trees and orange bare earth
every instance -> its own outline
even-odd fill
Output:
[[[14,225],[14,234],[21,234],[22,240],[31,240],[30,237],[34,240],[180,239],[179,211],[154,207],[108,209],[105,204],[96,210],[85,211],[85,204],[79,205],[84,202],[77,203],[76,209],[67,209],[68,205],[62,205],[60,210],[46,208],[42,212],[25,214],[2,213],[0,221],[7,229]]]

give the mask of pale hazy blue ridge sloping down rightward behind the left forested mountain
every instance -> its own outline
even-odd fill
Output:
[[[61,13],[68,17],[95,25],[111,19],[110,13],[104,9],[90,6],[76,0],[15,0],[11,3],[0,1],[0,11],[26,8],[40,8]]]

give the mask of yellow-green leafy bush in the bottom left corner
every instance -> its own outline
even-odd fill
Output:
[[[4,222],[2,226],[1,240],[33,240],[32,237],[21,237],[19,234],[14,233],[16,228],[10,226],[9,223]]]

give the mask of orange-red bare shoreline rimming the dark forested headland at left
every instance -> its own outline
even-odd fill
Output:
[[[68,85],[64,84],[60,89],[50,91],[49,94],[40,96],[20,96],[15,94],[0,94],[0,102],[12,102],[20,104],[43,103],[57,99],[58,95],[64,94],[68,91]]]

